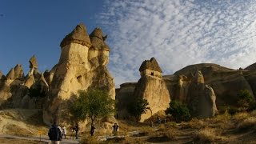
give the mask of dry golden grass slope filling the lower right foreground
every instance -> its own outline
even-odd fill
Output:
[[[166,122],[156,127],[137,122],[119,121],[119,134],[142,130],[144,133],[114,138],[102,143],[256,143],[256,111],[250,113],[219,114],[214,118],[190,122]],[[100,143],[86,137],[83,143]]]

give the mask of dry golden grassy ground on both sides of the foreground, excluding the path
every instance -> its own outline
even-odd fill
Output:
[[[33,136],[38,130],[46,131],[48,126],[42,124],[40,111],[0,110],[0,132]],[[41,118],[41,119],[40,119]],[[102,143],[256,143],[256,110],[250,113],[219,114],[214,118],[197,119],[190,122],[166,122],[154,125],[149,123],[118,121],[119,135],[125,138],[113,138]],[[142,133],[130,136],[131,131],[141,130]],[[100,143],[97,137],[104,135],[98,131],[91,138],[89,131],[81,134],[82,143]],[[68,135],[67,138],[70,138]],[[0,143],[33,143],[22,140],[2,138]]]

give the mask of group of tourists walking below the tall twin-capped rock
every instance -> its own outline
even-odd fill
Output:
[[[114,123],[114,126],[113,126],[113,134],[114,135],[117,135],[118,134],[118,124],[117,123]],[[70,134],[70,138],[74,139],[74,137],[76,139],[78,139],[78,130],[79,130],[79,127],[78,127],[78,123],[75,125],[75,126],[72,126],[71,128],[71,134]],[[91,136],[94,136],[95,134],[95,126],[94,125],[91,125],[90,126],[90,135]],[[48,131],[48,136],[51,140],[51,143],[52,144],[59,144],[59,142],[62,140],[62,138],[66,138],[66,127],[63,126],[58,126],[57,122],[54,121],[53,125],[51,125],[49,131]]]

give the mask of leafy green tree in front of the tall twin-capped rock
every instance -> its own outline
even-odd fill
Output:
[[[114,99],[102,90],[79,90],[79,97],[70,106],[70,114],[76,122],[90,118],[91,126],[96,118],[105,118],[114,114]]]

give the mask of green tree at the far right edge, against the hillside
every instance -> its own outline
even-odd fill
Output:
[[[254,103],[254,96],[249,90],[240,90],[238,93],[238,106],[249,108]]]

